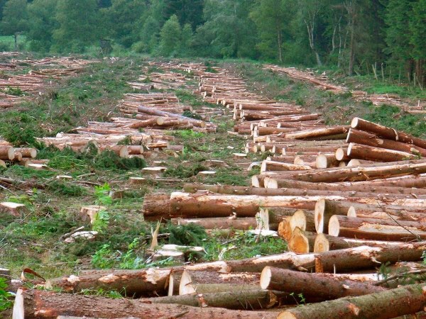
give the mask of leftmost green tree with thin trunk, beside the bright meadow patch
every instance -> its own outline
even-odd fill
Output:
[[[15,50],[18,50],[18,34],[28,28],[26,0],[9,0],[3,8],[3,18],[1,20],[1,33],[13,35],[15,40]]]

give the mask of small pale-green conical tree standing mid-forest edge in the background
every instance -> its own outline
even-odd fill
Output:
[[[164,56],[176,55],[180,52],[180,41],[182,40],[182,30],[175,14],[165,21],[160,31],[160,45],[158,53]]]

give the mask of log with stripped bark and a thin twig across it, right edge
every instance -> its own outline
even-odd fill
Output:
[[[329,235],[366,240],[407,241],[426,239],[425,223],[381,218],[334,215],[329,219]]]

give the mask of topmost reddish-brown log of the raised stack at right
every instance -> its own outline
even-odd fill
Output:
[[[354,118],[351,121],[351,128],[356,128],[357,130],[364,130],[366,132],[374,133],[378,136],[381,136],[382,138],[387,138],[388,140],[397,140],[399,142],[413,144],[426,149],[426,140],[415,138],[413,135],[394,130],[393,128],[387,128],[383,125],[368,122],[366,120],[363,120],[362,118]]]

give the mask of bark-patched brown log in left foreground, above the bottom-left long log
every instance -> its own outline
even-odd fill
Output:
[[[83,289],[116,290],[126,296],[155,296],[165,294],[170,269],[92,271],[78,276],[70,275],[50,279],[45,286],[60,288],[67,293]]]

